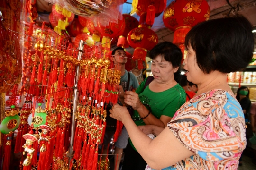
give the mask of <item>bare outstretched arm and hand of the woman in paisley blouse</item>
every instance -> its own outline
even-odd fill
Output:
[[[152,140],[136,126],[128,110],[123,108],[117,104],[114,105],[110,110],[110,117],[123,122],[135,148],[151,168],[166,168],[194,155],[176,139],[168,127]]]

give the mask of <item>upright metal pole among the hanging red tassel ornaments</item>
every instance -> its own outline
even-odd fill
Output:
[[[77,60],[80,61],[82,58],[82,54],[83,54],[83,47],[84,47],[84,41],[80,40],[79,42],[79,46],[78,46],[78,56],[77,56]],[[77,90],[77,81],[78,81],[78,77],[79,77],[79,71],[80,71],[80,66],[77,66],[77,70],[76,70],[76,76],[75,76],[75,86],[74,86],[74,100],[73,100],[73,114],[72,114],[72,122],[71,122],[71,136],[70,136],[70,145],[69,145],[69,152],[68,152],[68,157],[69,157],[69,161],[68,161],[68,169],[69,169],[69,165],[70,165],[70,161],[73,157],[73,144],[74,144],[74,134],[75,134],[75,112],[76,112],[76,107],[77,107],[77,100],[78,100],[78,96],[79,96],[79,92]]]

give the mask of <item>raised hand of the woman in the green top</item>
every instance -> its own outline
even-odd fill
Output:
[[[143,104],[139,100],[139,96],[135,92],[127,91],[124,95],[124,101],[130,105],[134,110],[138,110]]]

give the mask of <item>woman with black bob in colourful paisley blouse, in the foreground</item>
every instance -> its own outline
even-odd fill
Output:
[[[227,73],[246,68],[254,34],[243,16],[202,22],[187,34],[184,60],[197,94],[183,104],[165,129],[137,127],[127,109],[115,105],[110,116],[121,120],[137,151],[152,169],[235,170],[246,147],[243,110],[227,84]],[[129,101],[130,96],[125,96]],[[153,133],[154,140],[146,136]],[[168,167],[168,168],[166,168]]]

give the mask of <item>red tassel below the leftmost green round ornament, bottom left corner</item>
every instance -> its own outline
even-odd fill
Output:
[[[11,134],[6,135],[7,142],[4,147],[3,170],[9,170],[11,155]]]

